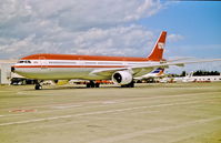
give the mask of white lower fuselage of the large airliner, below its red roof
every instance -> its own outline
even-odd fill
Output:
[[[98,75],[92,71],[101,69],[151,65],[159,62],[150,61],[90,61],[90,60],[22,60],[14,65],[16,72],[29,79],[37,80],[111,80],[111,75]],[[139,70],[133,76],[140,76],[153,69]]]

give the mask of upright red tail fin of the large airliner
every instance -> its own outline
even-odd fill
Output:
[[[163,50],[164,50],[164,45],[165,45],[165,37],[167,37],[167,32],[162,31],[152,52],[150,53],[149,57],[147,57],[148,60],[150,61],[161,61],[162,55],[163,55]]]

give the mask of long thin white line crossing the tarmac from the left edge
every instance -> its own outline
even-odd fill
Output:
[[[26,121],[18,121],[18,122],[8,122],[8,123],[1,123],[0,126],[13,125],[13,124],[34,123],[34,122],[41,122],[41,121],[52,121],[52,120],[59,120],[59,119],[70,119],[70,118],[84,116],[84,115],[98,115],[98,114],[107,114],[107,113],[115,113],[115,112],[125,112],[125,111],[141,110],[141,109],[162,108],[162,106],[172,106],[172,105],[184,105],[184,104],[192,104],[192,103],[199,103],[199,101],[183,102],[183,103],[168,103],[168,104],[158,104],[158,105],[149,105],[149,106],[135,106],[135,108],[127,108],[127,109],[118,109],[118,110],[107,110],[107,111],[97,111],[97,112],[78,113],[78,114],[69,114],[69,115],[52,116],[52,118],[43,118],[43,119],[36,119],[36,120],[26,120]]]

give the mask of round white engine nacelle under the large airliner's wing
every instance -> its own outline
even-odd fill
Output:
[[[133,80],[133,76],[128,71],[117,71],[112,74],[112,81],[115,84],[129,84]]]

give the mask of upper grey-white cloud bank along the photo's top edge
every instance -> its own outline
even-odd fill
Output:
[[[43,21],[71,31],[107,28],[150,17],[161,7],[160,0],[3,0],[0,25],[16,32],[38,30]]]

